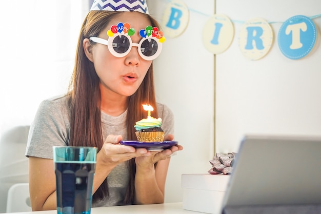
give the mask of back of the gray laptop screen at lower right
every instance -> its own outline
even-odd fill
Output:
[[[321,137],[246,136],[222,208],[321,204]]]

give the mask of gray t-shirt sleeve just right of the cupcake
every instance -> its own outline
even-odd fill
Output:
[[[157,104],[158,116],[162,118],[162,129],[164,134],[174,135],[174,114],[169,107],[164,104]]]

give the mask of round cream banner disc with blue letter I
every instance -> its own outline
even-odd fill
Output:
[[[226,15],[215,14],[204,25],[202,41],[213,54],[223,53],[232,43],[234,26]]]

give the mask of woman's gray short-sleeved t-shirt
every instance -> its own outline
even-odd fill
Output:
[[[163,104],[157,103],[158,116],[162,118],[162,128],[165,134],[174,134],[174,117],[172,111]],[[119,116],[110,116],[103,111],[102,132],[103,139],[107,135],[122,135],[127,137],[127,110]],[[133,124],[134,125],[134,124]],[[53,159],[53,146],[68,145],[70,136],[70,112],[67,96],[43,101],[31,124],[26,156]],[[124,205],[125,192],[129,181],[129,171],[126,163],[117,165],[108,175],[109,199],[97,201],[93,207]]]

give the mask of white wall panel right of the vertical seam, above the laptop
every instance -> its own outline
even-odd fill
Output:
[[[321,2],[216,0],[216,13],[227,15],[235,28],[230,48],[216,56],[216,151],[237,151],[248,133],[320,135],[320,38],[306,57],[290,60],[278,48],[277,33],[294,15],[321,14]],[[256,17],[271,23],[274,43],[263,59],[250,61],[238,48],[238,35]],[[321,17],[313,22],[319,31]]]

